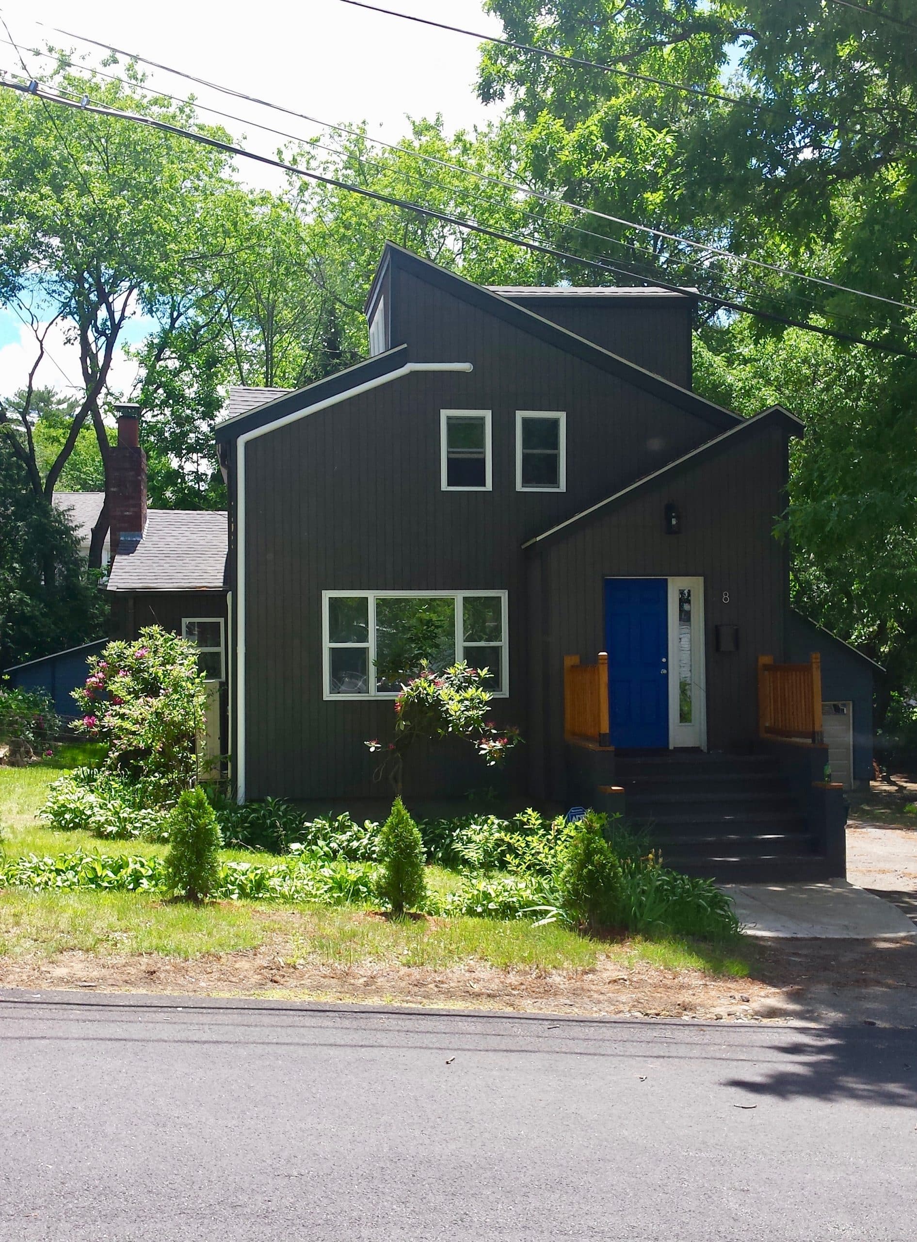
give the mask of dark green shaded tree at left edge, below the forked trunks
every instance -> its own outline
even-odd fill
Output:
[[[104,615],[67,519],[0,435],[0,669],[101,637]]]

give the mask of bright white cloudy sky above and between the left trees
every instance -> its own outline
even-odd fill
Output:
[[[371,0],[383,7],[449,21],[483,34],[501,32],[500,22],[481,11],[480,0]],[[448,16],[447,16],[448,15]],[[2,16],[10,35],[24,50],[26,66],[36,72],[41,60],[30,48],[46,42],[92,51],[76,39],[48,27],[96,39],[140,53],[182,72],[231,86],[247,94],[308,113],[320,120],[355,124],[366,120],[370,133],[397,142],[406,132],[406,117],[442,113],[449,130],[470,128],[495,119],[475,97],[473,83],[478,42],[448,31],[354,9],[341,0],[156,0],[155,5],[124,0],[5,0]],[[41,26],[38,22],[43,22]],[[5,39],[0,29],[0,39]],[[101,48],[94,55],[103,56]],[[0,68],[22,72],[16,52],[0,42]],[[171,94],[192,88],[163,71],[150,71],[151,81]],[[256,122],[289,129],[303,137],[320,130],[303,120],[280,117],[242,101],[230,101],[215,91],[194,87],[201,106],[212,104],[235,113],[244,123],[220,123],[249,149],[273,154],[275,135],[258,130]],[[206,119],[210,118],[202,113]],[[273,174],[248,165],[243,176],[252,184],[275,185]],[[132,333],[143,335],[141,325]],[[67,390],[78,381],[77,353],[57,328],[48,337],[48,358],[38,383]],[[0,394],[25,383],[35,358],[30,330],[9,310],[0,309]],[[65,378],[67,376],[67,378]],[[112,388],[127,391],[134,368],[120,355]]]

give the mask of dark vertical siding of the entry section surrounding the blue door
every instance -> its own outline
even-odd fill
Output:
[[[757,658],[783,658],[789,609],[785,545],[773,537],[785,505],[785,440],[768,430],[629,504],[546,542],[540,559],[551,650],[546,745],[548,790],[563,790],[563,656],[594,661],[604,647],[606,578],[702,578],[707,746],[747,749],[757,733]],[[664,530],[666,502],[681,534]],[[728,602],[723,594],[728,594]],[[738,626],[738,651],[716,651],[717,625]]]

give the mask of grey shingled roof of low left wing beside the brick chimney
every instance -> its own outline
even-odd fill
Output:
[[[114,558],[109,591],[221,591],[226,513],[150,509],[143,538]]]

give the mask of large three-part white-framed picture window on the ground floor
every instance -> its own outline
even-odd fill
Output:
[[[423,662],[486,668],[509,693],[505,591],[325,591],[325,698],[395,697]]]

